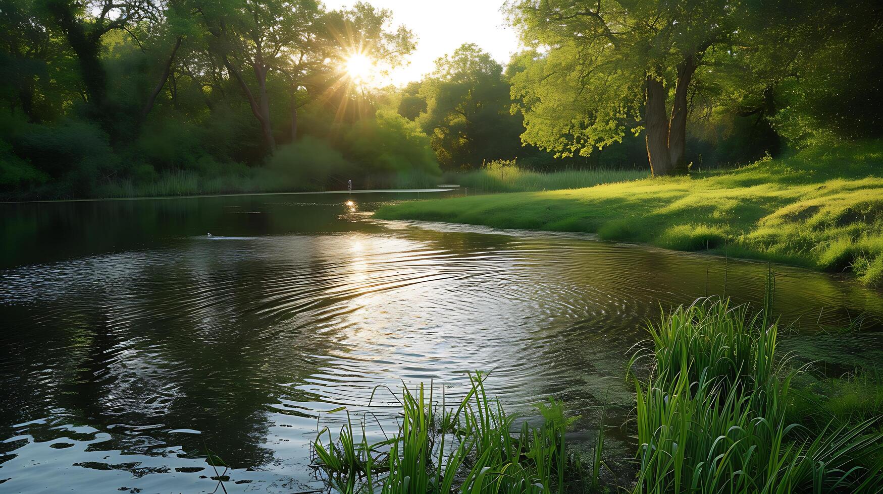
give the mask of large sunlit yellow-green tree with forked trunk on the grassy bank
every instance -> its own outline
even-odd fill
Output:
[[[653,175],[686,168],[687,113],[698,68],[736,34],[720,0],[522,0],[511,19],[532,59],[512,79],[523,140],[560,155],[645,132]]]

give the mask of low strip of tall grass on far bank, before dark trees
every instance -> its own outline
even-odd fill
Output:
[[[645,170],[566,169],[541,172],[521,168],[516,161],[491,161],[467,172],[448,174],[445,180],[488,192],[532,192],[581,189],[600,183],[629,182],[646,178]]]

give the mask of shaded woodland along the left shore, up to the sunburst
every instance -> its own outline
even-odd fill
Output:
[[[0,187],[88,195],[176,170],[275,170],[266,183],[308,189],[437,172],[416,125],[377,116],[342,70],[353,54],[394,66],[411,52],[390,19],[314,0],[0,0]]]

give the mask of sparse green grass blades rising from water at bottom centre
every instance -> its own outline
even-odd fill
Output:
[[[322,430],[313,443],[314,467],[329,485],[355,493],[537,493],[570,492],[582,488],[584,476],[598,485],[600,448],[591,472],[568,451],[560,401],[540,407],[543,423],[522,423],[513,433],[515,415],[487,397],[483,377],[470,375],[471,389],[456,407],[434,402],[432,388],[403,386],[399,430],[369,444],[363,426],[356,439],[352,421],[335,441]],[[585,491],[585,490],[584,490]]]

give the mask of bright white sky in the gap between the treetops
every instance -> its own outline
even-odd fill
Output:
[[[503,0],[366,0],[393,12],[393,24],[404,24],[417,36],[410,64],[392,72],[392,82],[404,85],[433,71],[435,59],[462,45],[475,43],[502,64],[518,49],[515,32],[500,11]],[[330,9],[349,7],[355,0],[325,0]],[[381,84],[383,86],[383,84]]]

